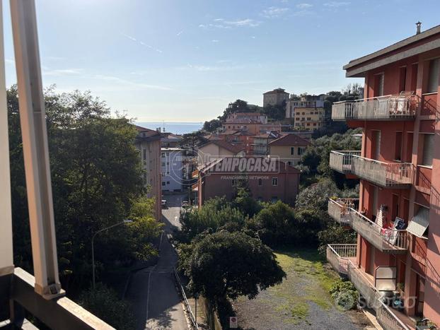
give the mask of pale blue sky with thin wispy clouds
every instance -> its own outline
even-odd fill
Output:
[[[424,6],[419,6],[424,4]],[[4,1],[6,83],[16,81]],[[325,93],[342,65],[440,24],[439,0],[36,0],[43,83],[142,121],[202,122],[238,98]],[[430,8],[429,10],[427,8]]]

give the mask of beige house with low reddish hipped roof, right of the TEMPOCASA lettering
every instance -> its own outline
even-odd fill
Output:
[[[271,157],[279,157],[282,162],[294,166],[299,163],[308,145],[310,142],[296,134],[285,134],[269,143],[269,154]]]

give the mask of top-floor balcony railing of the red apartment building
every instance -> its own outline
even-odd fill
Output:
[[[415,95],[386,95],[377,98],[335,102],[332,120],[413,120]]]

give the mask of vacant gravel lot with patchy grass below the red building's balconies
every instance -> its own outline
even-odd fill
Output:
[[[243,329],[364,329],[361,312],[337,310],[328,289],[337,274],[325,266],[316,250],[278,251],[287,274],[283,283],[262,291],[254,300],[233,303]]]

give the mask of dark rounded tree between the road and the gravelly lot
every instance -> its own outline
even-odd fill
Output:
[[[286,276],[272,250],[243,232],[206,235],[192,245],[186,265],[191,292],[212,301],[241,295],[253,299]]]

